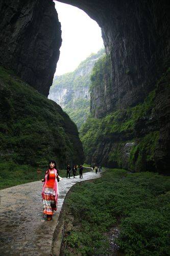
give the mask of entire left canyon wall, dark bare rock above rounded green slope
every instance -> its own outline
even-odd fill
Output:
[[[46,98],[61,46],[53,1],[0,0],[0,10],[1,161],[46,166],[55,159],[59,168],[83,163],[76,125]]]

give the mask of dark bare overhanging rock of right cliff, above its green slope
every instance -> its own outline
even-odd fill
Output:
[[[100,102],[101,90],[96,88],[93,92],[98,109],[106,107],[107,111],[102,110],[105,114],[142,102],[169,65],[168,1],[60,2],[83,9],[102,28],[104,45],[111,57],[111,90],[109,98],[105,90]],[[95,113],[95,106],[92,110]]]

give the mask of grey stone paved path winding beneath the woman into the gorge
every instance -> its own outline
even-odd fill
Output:
[[[36,181],[0,190],[0,255],[50,255],[53,233],[64,198],[77,182],[96,179],[100,173],[84,173],[83,179],[63,178],[59,182],[57,212],[47,222],[42,214],[42,182]]]

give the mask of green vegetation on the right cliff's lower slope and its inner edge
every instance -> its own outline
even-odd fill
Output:
[[[91,114],[80,129],[86,162],[133,172],[167,173],[169,139],[167,132],[160,130],[160,124],[164,123],[168,129],[165,120],[169,116],[166,96],[169,95],[169,70],[143,102],[112,111],[110,106],[107,110],[107,105],[111,104],[110,77],[110,56],[106,55],[94,65],[90,86]]]

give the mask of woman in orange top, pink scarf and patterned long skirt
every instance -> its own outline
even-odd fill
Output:
[[[43,214],[46,214],[46,220],[51,221],[54,211],[57,210],[57,199],[59,195],[58,180],[59,174],[56,168],[56,162],[50,160],[48,169],[45,172],[45,177],[42,179],[42,199],[43,199]]]

